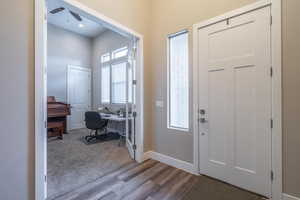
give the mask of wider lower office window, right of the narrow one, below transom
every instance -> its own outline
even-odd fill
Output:
[[[126,62],[111,66],[112,103],[126,103]]]

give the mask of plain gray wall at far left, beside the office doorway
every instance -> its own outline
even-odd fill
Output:
[[[34,199],[33,0],[0,6],[0,199]]]

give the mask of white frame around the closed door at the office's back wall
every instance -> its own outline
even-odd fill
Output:
[[[71,69],[77,69],[80,71],[86,71],[90,75],[90,99],[89,99],[89,106],[92,108],[92,69],[91,68],[85,68],[77,65],[68,65],[67,66],[67,103],[70,104],[70,70]],[[70,104],[71,105],[71,104]],[[72,105],[71,105],[72,106]],[[72,114],[72,112],[71,112]],[[67,131],[72,130],[70,129],[70,117],[67,117]]]

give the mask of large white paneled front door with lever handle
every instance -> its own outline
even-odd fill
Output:
[[[198,30],[200,173],[271,194],[270,7]]]

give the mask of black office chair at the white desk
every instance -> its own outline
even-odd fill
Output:
[[[98,112],[86,112],[85,113],[85,125],[86,128],[91,130],[91,134],[85,136],[85,140],[90,142],[93,139],[102,139],[103,136],[107,134],[107,124],[108,120],[102,119]],[[95,131],[95,134],[92,132]],[[99,132],[104,132],[104,134],[99,134]]]

